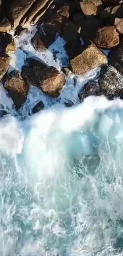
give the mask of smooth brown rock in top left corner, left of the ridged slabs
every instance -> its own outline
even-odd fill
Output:
[[[9,7],[11,17],[13,20],[13,29],[15,29],[19,24],[22,23],[24,15],[27,13],[32,4],[36,0],[15,0]]]

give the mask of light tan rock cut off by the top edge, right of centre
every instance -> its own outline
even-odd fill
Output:
[[[102,0],[82,0],[80,7],[87,18],[92,18],[103,8],[103,3]]]

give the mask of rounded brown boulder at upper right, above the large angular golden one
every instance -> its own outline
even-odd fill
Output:
[[[110,49],[119,44],[119,34],[114,26],[99,28],[93,42],[99,48]]]

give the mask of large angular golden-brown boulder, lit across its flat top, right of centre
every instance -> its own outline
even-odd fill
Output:
[[[107,57],[91,44],[80,55],[70,61],[71,71],[78,75],[84,75],[100,65],[107,63]]]

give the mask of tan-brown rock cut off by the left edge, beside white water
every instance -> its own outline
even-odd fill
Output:
[[[0,53],[0,81],[9,69],[10,57],[5,53]]]

